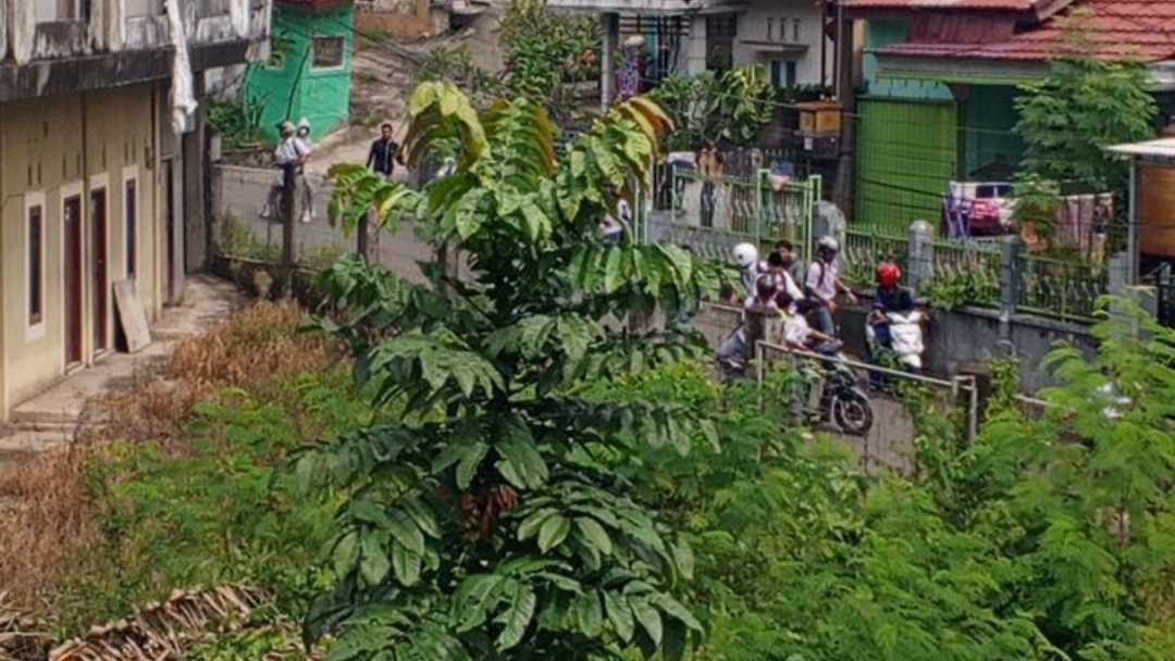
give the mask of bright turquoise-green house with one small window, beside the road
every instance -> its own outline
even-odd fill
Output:
[[[271,54],[247,85],[271,137],[286,120],[309,120],[315,140],[349,121],[354,45],[352,0],[274,2]]]

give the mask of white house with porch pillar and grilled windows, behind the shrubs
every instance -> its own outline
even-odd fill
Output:
[[[549,0],[600,18],[602,96],[616,95],[619,45],[642,36],[647,86],[670,74],[760,65],[780,88],[832,87],[833,0]]]

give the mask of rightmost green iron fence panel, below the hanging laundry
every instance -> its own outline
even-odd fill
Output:
[[[1087,322],[1109,291],[1104,268],[1085,262],[1020,255],[1014,269],[1018,311]]]

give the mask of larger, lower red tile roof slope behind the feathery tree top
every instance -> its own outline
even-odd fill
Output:
[[[1112,60],[1175,60],[1175,0],[1079,0],[1065,14],[1050,18],[1040,27],[1016,34],[1008,41],[900,43],[880,53],[912,58],[1048,60],[1073,48],[1065,42],[1062,27],[1066,18],[1079,8],[1093,12],[1092,48],[1082,48],[1082,52],[1092,49],[1097,56]]]

